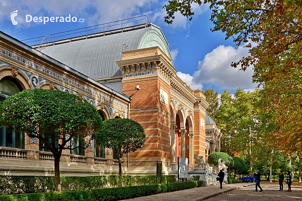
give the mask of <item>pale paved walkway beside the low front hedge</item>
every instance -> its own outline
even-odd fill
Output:
[[[250,184],[247,183],[234,183],[234,184],[224,184],[222,189],[219,188],[219,185],[214,186],[206,186],[206,187],[198,187],[198,188],[191,188],[186,190],[179,190],[174,192],[168,193],[160,193],[155,195],[149,195],[144,197],[137,197],[133,199],[128,199],[128,201],[146,201],[146,200],[173,200],[173,201],[180,201],[180,200],[204,200],[215,194],[221,194],[226,191],[238,189]]]

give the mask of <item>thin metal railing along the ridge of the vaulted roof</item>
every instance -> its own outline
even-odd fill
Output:
[[[79,28],[79,29],[73,29],[69,31],[64,32],[58,32],[54,34],[50,34],[48,37],[45,36],[39,36],[35,38],[29,38],[25,40],[21,40],[21,42],[27,44],[27,45],[40,45],[40,43],[43,41],[43,43],[50,43],[54,41],[59,40],[69,40],[71,41],[71,38],[74,37],[87,37],[91,34],[102,34],[105,35],[106,32],[110,32],[112,30],[121,29],[121,32],[123,32],[124,28],[135,26],[135,25],[141,25],[141,24],[148,24],[148,17],[146,15],[127,18],[123,20],[117,20],[113,22],[103,23],[99,25],[93,25],[89,27]]]

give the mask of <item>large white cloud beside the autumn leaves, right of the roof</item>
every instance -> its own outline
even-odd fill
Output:
[[[248,49],[242,46],[234,48],[220,45],[199,61],[193,81],[214,84],[223,89],[254,88],[257,84],[252,83],[253,66],[246,71],[230,66],[232,61],[238,61],[248,54]]]

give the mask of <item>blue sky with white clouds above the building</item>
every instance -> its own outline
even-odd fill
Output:
[[[161,0],[74,0],[74,1],[7,1],[0,2],[0,30],[19,39],[50,35],[57,32],[112,22],[139,15],[147,15],[149,22],[160,26],[170,45],[177,75],[192,89],[214,88],[219,93],[228,89],[232,93],[239,87],[253,89],[252,66],[246,71],[230,67],[232,61],[248,55],[248,50],[236,47],[232,39],[224,40],[221,32],[210,31],[208,5],[193,5],[195,16],[189,22],[179,13],[172,25],[164,23],[165,11]],[[14,26],[11,13],[18,10]],[[25,15],[51,17],[68,15],[84,23],[34,23],[25,22]]]

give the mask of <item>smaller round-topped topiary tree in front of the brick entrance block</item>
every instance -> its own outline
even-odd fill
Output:
[[[142,148],[145,141],[142,126],[130,119],[110,119],[103,122],[103,127],[96,135],[96,140],[112,148],[118,159],[119,181],[122,183],[122,156],[125,153]]]

